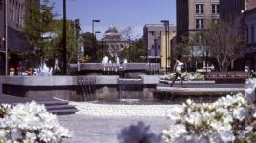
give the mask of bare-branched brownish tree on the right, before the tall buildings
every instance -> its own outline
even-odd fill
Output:
[[[197,36],[206,51],[216,59],[220,71],[227,71],[231,63],[244,55],[240,20],[211,23],[208,30],[201,31]]]

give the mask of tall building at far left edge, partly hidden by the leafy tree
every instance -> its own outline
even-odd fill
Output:
[[[26,17],[30,14],[30,11],[25,9],[25,4],[31,4],[32,1],[39,4],[39,0],[0,0],[0,75],[5,72],[6,52],[3,41],[5,26],[7,26],[8,35],[9,63],[17,64],[16,61],[23,59],[22,53],[28,50],[29,45],[24,42],[25,35],[22,33],[22,29],[25,26]],[[7,19],[6,23],[5,17]]]

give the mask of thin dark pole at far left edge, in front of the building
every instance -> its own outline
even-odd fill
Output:
[[[6,59],[5,59],[5,74],[8,75],[8,25],[7,25],[7,2],[8,0],[5,0],[5,39],[4,39],[4,45],[5,45],[5,52],[6,52]]]

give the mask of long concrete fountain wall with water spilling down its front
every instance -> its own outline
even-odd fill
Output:
[[[78,77],[93,78],[96,83],[81,85]],[[29,98],[92,100],[91,97],[84,97],[84,89],[88,88],[91,91],[87,94],[94,94],[94,99],[99,100],[117,100],[125,94],[131,94],[133,98],[153,99],[153,91],[159,82],[158,76],[144,75],[140,78],[143,81],[140,86],[122,89],[118,84],[118,76],[0,76],[0,93]]]

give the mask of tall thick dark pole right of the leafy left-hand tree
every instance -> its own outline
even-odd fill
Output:
[[[67,48],[66,48],[66,0],[63,0],[63,32],[62,32],[62,44],[63,44],[63,75],[67,74]]]

